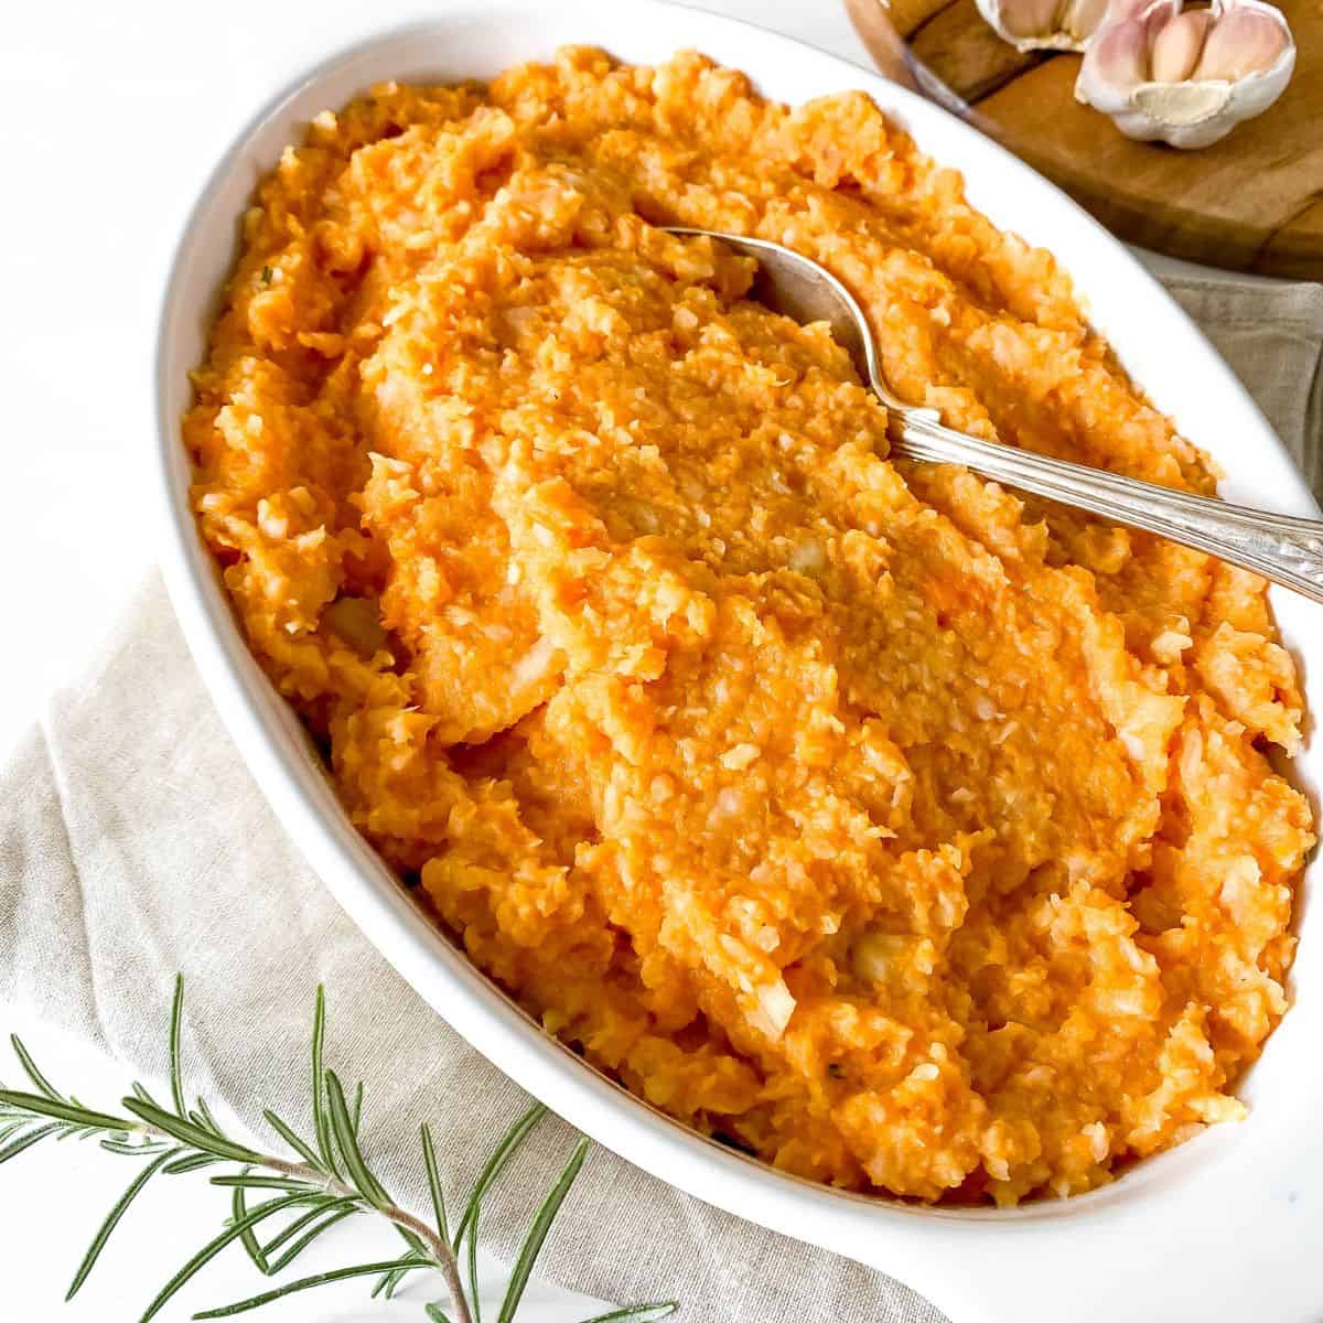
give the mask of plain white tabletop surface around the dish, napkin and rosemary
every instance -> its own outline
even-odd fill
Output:
[[[705,7],[867,64],[837,0]],[[45,696],[95,656],[152,565],[155,525],[142,495],[149,348],[157,282],[183,209],[254,107],[361,12],[361,0],[28,0],[3,12],[0,757]],[[3,1012],[0,1028],[19,1029],[57,1082],[101,1097],[122,1089],[119,1068],[49,1025]],[[15,1078],[8,1062],[0,1078]],[[0,1168],[0,1319],[135,1318],[217,1228],[217,1191],[180,1177],[168,1199],[156,1189],[135,1205],[83,1293],[61,1306],[86,1241],[128,1179],[128,1164],[90,1144],[46,1143]],[[389,1253],[393,1237],[363,1218],[328,1241],[310,1270]],[[185,1306],[239,1299],[265,1285],[232,1250],[164,1316],[185,1318]],[[418,1301],[442,1294],[430,1285],[430,1294],[406,1293],[411,1308],[369,1303],[363,1283],[351,1282],[259,1316],[417,1318]],[[524,1323],[595,1312],[594,1302],[537,1283],[525,1302]]]

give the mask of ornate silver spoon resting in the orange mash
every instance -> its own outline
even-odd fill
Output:
[[[863,310],[840,280],[816,262],[781,243],[669,226],[672,234],[704,234],[755,258],[753,298],[799,323],[826,321],[849,353],[859,374],[900,419],[892,455],[963,464],[1007,487],[1076,505],[1093,515],[1142,528],[1209,556],[1262,574],[1323,602],[1323,521],[1230,505],[1209,496],[1172,491],[1138,478],[1049,459],[1032,451],[978,441],[943,427],[935,409],[898,400],[886,385],[877,347]]]

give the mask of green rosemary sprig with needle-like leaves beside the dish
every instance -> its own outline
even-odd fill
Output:
[[[464,1201],[463,1216],[451,1236],[437,1150],[426,1123],[419,1127],[418,1135],[431,1201],[431,1222],[396,1203],[365,1158],[359,1138],[364,1088],[359,1084],[351,1101],[339,1076],[324,1062],[325,994],[320,987],[314,1005],[310,1053],[308,1111],[312,1139],[304,1138],[275,1111],[266,1109],[262,1113],[273,1132],[292,1151],[292,1158],[265,1152],[226,1134],[202,1098],[196,1101],[196,1106],[188,1106],[183,1068],[183,1024],[184,980],[177,978],[168,1039],[171,1106],[161,1106],[144,1085],[135,1081],[130,1093],[120,1099],[127,1115],[98,1111],[85,1106],[71,1094],[60,1093],[37,1068],[22,1043],[16,1036],[9,1040],[19,1066],[33,1091],[0,1088],[0,1163],[17,1158],[44,1139],[89,1138],[97,1138],[107,1152],[148,1159],[98,1228],[65,1298],[73,1299],[82,1289],[130,1207],[157,1176],[180,1176],[205,1167],[229,1164],[235,1170],[209,1177],[210,1184],[228,1191],[229,1195],[228,1217],[221,1230],[156,1293],[143,1311],[140,1323],[148,1323],[155,1318],[187,1282],[232,1244],[238,1242],[257,1270],[270,1278],[294,1263],[337,1222],[359,1213],[374,1213],[390,1222],[404,1242],[404,1252],[394,1258],[355,1263],[283,1282],[249,1299],[205,1310],[193,1318],[229,1318],[296,1291],[357,1277],[376,1278],[372,1294],[381,1294],[389,1299],[407,1275],[425,1271],[439,1273],[448,1294],[446,1307],[439,1302],[423,1307],[427,1319],[433,1323],[480,1323],[476,1249],[482,1203],[520,1144],[546,1114],[546,1109],[541,1105],[531,1107],[496,1144]],[[497,1323],[513,1323],[533,1265],[561,1204],[583,1166],[586,1154],[585,1139],[574,1148],[556,1183],[534,1211],[519,1257],[511,1269]],[[274,1233],[270,1230],[273,1225],[278,1226]],[[464,1274],[460,1273],[460,1256],[467,1270]],[[468,1278],[467,1286],[464,1275]],[[615,1319],[652,1323],[673,1314],[675,1310],[673,1301],[635,1304],[597,1315],[585,1323],[610,1323]]]

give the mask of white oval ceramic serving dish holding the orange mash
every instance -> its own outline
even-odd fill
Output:
[[[370,12],[369,12],[370,11]],[[922,1209],[778,1174],[656,1114],[546,1037],[407,900],[353,831],[294,713],[249,655],[188,507],[179,422],[188,373],[235,254],[258,177],[325,107],[370,83],[488,77],[564,42],[631,62],[696,46],[759,90],[802,102],[868,91],[918,144],[959,168],[998,225],[1050,249],[1134,378],[1226,472],[1222,492],[1298,515],[1318,507],[1278,439],[1208,341],[1126,250],[1053,185],[918,97],[789,38],[650,0],[484,0],[368,7],[357,44],[302,74],[239,134],[188,216],[171,266],[155,364],[156,468],[171,598],[235,744],[282,823],[366,937],[460,1033],[566,1121],[639,1167],[786,1234],[884,1269],[955,1323],[1323,1318],[1323,917],[1302,905],[1295,1005],[1241,1090],[1242,1125],[1211,1130],[1093,1193],[1009,1212]],[[1323,611],[1274,594],[1298,659]],[[1323,687],[1306,668],[1312,710]],[[1316,742],[1295,775],[1323,782]],[[1316,868],[1311,868],[1311,873]],[[767,1320],[774,1323],[774,1320]]]

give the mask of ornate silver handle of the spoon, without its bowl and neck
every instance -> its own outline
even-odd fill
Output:
[[[978,441],[943,427],[929,410],[908,411],[900,433],[900,439],[892,443],[893,456],[963,464],[1007,487],[1208,552],[1323,602],[1323,520],[1248,509]]]

